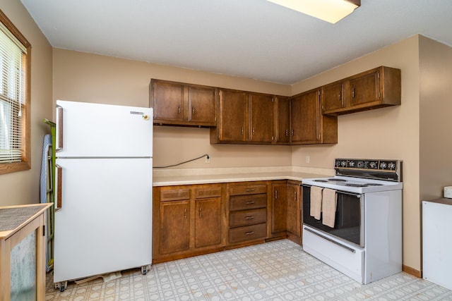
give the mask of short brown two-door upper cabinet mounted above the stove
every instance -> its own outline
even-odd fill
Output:
[[[400,104],[400,69],[380,66],[321,87],[322,113],[341,115]]]

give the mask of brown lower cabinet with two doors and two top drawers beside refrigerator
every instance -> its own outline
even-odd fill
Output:
[[[225,184],[153,188],[153,263],[222,250],[224,199]]]

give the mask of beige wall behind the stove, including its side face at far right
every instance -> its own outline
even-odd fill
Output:
[[[376,66],[402,70],[402,105],[338,118],[338,145],[293,147],[294,166],[331,166],[335,157],[403,160],[403,264],[422,270],[420,200],[452,185],[452,49],[415,35],[297,83],[292,94]],[[305,157],[310,156],[307,164]]]

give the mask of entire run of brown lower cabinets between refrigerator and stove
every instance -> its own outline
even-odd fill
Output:
[[[300,183],[153,188],[153,263],[289,238],[301,245]]]

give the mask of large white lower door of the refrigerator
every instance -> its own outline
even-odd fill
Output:
[[[54,282],[152,261],[152,159],[57,159]]]

